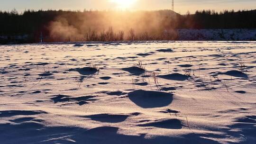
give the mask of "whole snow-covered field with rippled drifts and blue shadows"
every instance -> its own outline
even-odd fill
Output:
[[[0,45],[0,61],[0,144],[256,144],[256,42]]]

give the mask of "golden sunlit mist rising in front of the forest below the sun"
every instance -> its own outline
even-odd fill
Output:
[[[64,12],[48,29],[53,41],[169,40],[179,17],[170,10]]]

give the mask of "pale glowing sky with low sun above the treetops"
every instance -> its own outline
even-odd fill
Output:
[[[158,10],[171,9],[172,0],[0,0],[0,10],[63,9],[63,10]],[[256,0],[174,0],[174,11],[186,14],[201,9],[256,9]]]

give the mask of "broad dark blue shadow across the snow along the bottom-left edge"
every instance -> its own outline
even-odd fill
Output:
[[[0,124],[2,144],[219,144],[194,134],[182,137],[119,134],[119,128],[100,126],[85,129],[72,126],[46,127],[37,122]]]

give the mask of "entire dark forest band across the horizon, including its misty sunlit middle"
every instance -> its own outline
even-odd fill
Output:
[[[176,29],[252,29],[256,10],[0,11],[0,43],[175,40]],[[17,38],[19,36],[19,38]],[[41,38],[40,38],[41,37]]]

